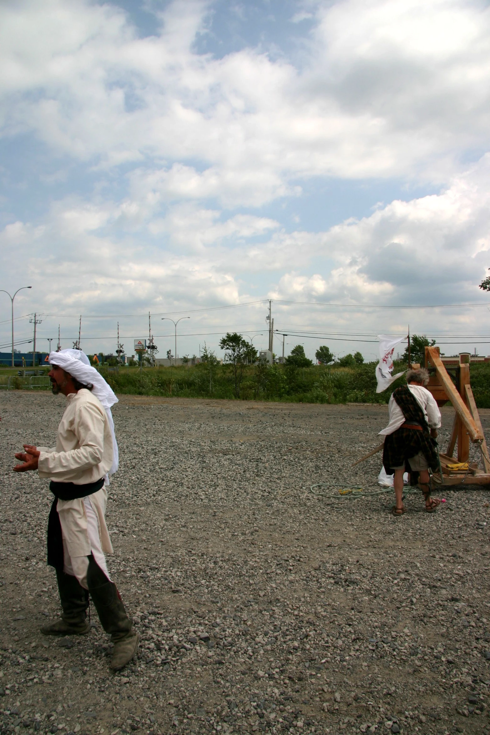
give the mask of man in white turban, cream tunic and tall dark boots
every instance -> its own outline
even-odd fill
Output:
[[[104,631],[112,635],[111,668],[123,668],[134,656],[138,636],[126,614],[118,588],[109,577],[106,553],[112,553],[105,521],[109,475],[118,469],[111,406],[114,392],[79,350],[49,355],[52,391],[67,405],[58,427],[56,447],[24,445],[15,454],[16,472],[38,470],[51,480],[54,494],[48,519],[48,564],[55,568],[62,614],[43,625],[46,635],[85,634],[88,598],[93,600]]]

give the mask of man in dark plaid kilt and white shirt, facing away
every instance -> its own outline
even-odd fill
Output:
[[[425,368],[408,370],[407,385],[393,391],[389,399],[389,424],[380,431],[384,435],[383,466],[388,475],[394,473],[394,515],[402,515],[403,473],[410,473],[412,485],[417,483],[425,497],[425,510],[432,513],[441,501],[430,497],[429,467],[439,470],[436,451],[437,429],[441,412],[433,395],[425,388],[429,373]]]

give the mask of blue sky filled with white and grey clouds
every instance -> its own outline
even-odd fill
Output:
[[[486,1],[4,0],[0,65],[16,342],[197,354],[271,298],[287,351],[490,354]]]

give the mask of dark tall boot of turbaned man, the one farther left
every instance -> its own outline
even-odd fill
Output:
[[[84,635],[90,631],[87,623],[88,592],[76,577],[56,570],[58,590],[63,612],[53,623],[41,625],[45,636]]]

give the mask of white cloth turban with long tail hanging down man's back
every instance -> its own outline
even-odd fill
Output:
[[[107,418],[112,434],[112,445],[114,447],[114,456],[112,459],[112,467],[109,475],[113,475],[119,467],[119,451],[118,442],[116,442],[114,421],[112,420],[111,406],[118,403],[118,398],[110,385],[104,380],[100,373],[90,365],[90,360],[82,350],[60,350],[60,352],[49,353],[49,364],[57,365],[59,368],[66,370],[67,373],[84,385],[93,385],[93,395],[101,401],[106,409]],[[109,478],[107,478],[107,482]]]

